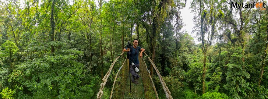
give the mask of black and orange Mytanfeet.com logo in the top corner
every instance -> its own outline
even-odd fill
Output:
[[[244,3],[242,2],[242,4],[238,4],[237,2],[232,2],[231,4],[231,7],[232,8],[238,8],[240,9],[241,7],[242,8],[257,8],[257,9],[260,9],[260,10],[266,10],[266,7],[265,7],[265,3],[264,2],[253,2],[253,3]]]

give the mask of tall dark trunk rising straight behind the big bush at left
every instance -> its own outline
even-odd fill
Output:
[[[54,30],[55,30],[55,22],[54,22],[54,6],[55,6],[55,0],[52,0],[51,5],[51,16],[50,16],[50,41],[54,41]],[[54,53],[54,46],[51,45],[51,54]]]

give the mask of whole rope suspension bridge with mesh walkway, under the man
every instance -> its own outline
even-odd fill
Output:
[[[153,69],[155,69],[157,76],[160,79],[160,83],[163,87],[164,93],[166,95],[167,99],[173,99],[171,96],[170,91],[168,90],[168,87],[166,86],[165,81],[163,80],[162,76],[160,75],[160,72],[156,68],[153,61],[148,57],[148,55],[143,52],[146,57],[149,59],[151,65],[153,65]],[[114,62],[111,64],[108,72],[103,77],[103,81],[101,83],[101,87],[99,92],[97,93],[97,98],[102,99],[103,96],[103,89],[105,87],[105,84],[108,81],[108,78],[111,74],[111,71],[114,68],[115,63],[117,62],[118,58],[120,58],[124,52],[122,52],[117,58],[115,58]],[[150,71],[148,70],[146,63],[143,58],[139,57],[139,70],[138,73],[140,75],[139,78],[139,84],[130,83],[130,74],[129,74],[129,60],[125,59],[124,63],[118,70],[113,87],[111,90],[110,99],[159,99],[158,94],[156,91],[156,88],[153,83],[153,79],[150,76]],[[130,85],[131,84],[131,85]]]

